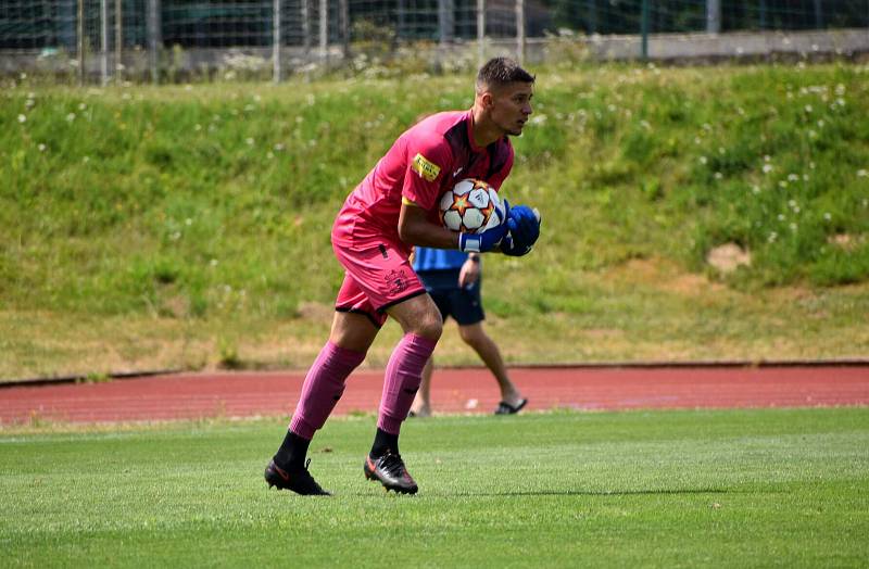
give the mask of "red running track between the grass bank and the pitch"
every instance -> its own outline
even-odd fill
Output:
[[[638,409],[869,405],[869,366],[516,368],[527,409]],[[0,426],[289,416],[303,374],[177,374],[92,384],[0,389]],[[336,414],[374,412],[382,372],[351,376]],[[484,369],[436,371],[436,413],[491,413],[496,383]]]

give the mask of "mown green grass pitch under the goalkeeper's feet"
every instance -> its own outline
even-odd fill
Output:
[[[267,491],[278,420],[0,435],[4,567],[866,567],[869,409],[410,421],[417,496],[362,476],[373,417],[332,420]]]

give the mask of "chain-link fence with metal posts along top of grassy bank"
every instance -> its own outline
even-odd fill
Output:
[[[869,51],[869,0],[0,0],[0,69],[80,81],[779,51]]]

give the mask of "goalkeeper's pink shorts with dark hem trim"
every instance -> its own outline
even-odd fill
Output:
[[[379,328],[387,320],[387,308],[426,292],[404,244],[379,240],[357,242],[351,249],[332,241],[332,249],[345,269],[335,301],[338,312],[364,314]]]

